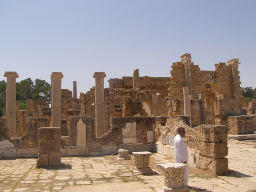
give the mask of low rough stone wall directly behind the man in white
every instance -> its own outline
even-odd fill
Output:
[[[165,124],[164,124],[165,123]],[[200,125],[190,128],[188,116],[156,118],[155,151],[174,159],[174,137],[184,127],[184,140],[189,151],[189,166],[212,171],[216,175],[228,173],[227,126]],[[159,136],[161,133],[161,137]]]

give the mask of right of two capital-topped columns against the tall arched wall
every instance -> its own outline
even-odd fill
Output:
[[[239,90],[240,90],[240,85],[239,85],[239,76],[238,76],[238,64],[239,59],[230,59],[228,61],[228,65],[232,67],[232,75],[233,75],[233,85],[234,85],[234,93],[237,94],[237,99],[239,100],[240,95],[239,95]]]

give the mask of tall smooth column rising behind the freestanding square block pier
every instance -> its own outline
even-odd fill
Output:
[[[52,125],[51,127],[62,126],[62,78],[63,74],[52,72]]]

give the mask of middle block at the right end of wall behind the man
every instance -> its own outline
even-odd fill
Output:
[[[211,159],[221,159],[228,155],[228,143],[202,142],[199,147],[201,156]]]

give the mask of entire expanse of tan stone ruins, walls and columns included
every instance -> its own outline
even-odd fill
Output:
[[[157,152],[174,158],[177,128],[186,130],[189,165],[215,174],[228,172],[228,134],[256,131],[256,101],[241,93],[239,59],[201,71],[190,54],[171,66],[170,77],[109,79],[95,72],[95,87],[76,97],[52,73],[51,107],[15,100],[16,72],[7,77],[6,117],[0,118],[0,158],[38,157],[38,167],[56,166],[62,156]],[[50,76],[50,74],[49,74]],[[93,79],[92,79],[93,81]],[[248,114],[247,114],[248,111]]]

